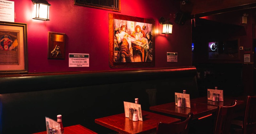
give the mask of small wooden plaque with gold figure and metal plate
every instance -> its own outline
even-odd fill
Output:
[[[48,59],[65,59],[65,33],[48,32]]]

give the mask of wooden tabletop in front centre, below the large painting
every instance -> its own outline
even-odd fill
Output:
[[[133,122],[126,118],[124,113],[95,119],[95,123],[122,134],[152,133],[156,131],[158,122],[175,123],[180,119],[159,115],[142,110],[142,120]]]

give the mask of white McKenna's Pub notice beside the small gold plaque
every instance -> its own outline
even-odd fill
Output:
[[[68,67],[89,67],[89,54],[68,54]]]

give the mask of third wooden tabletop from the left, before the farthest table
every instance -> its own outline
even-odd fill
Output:
[[[217,106],[211,106],[207,104],[202,103],[194,103],[190,101],[190,108],[181,108],[177,107],[175,105],[175,102],[161,104],[149,107],[150,110],[170,114],[170,115],[176,115],[180,117],[187,117],[188,113],[193,113],[193,118],[202,118],[208,115],[211,115],[213,112],[216,112]]]

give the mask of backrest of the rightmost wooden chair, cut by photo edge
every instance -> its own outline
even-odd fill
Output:
[[[244,134],[256,133],[256,96],[248,96],[244,114]]]

